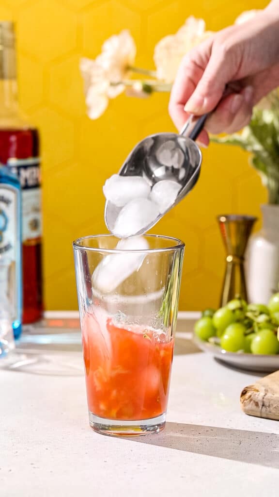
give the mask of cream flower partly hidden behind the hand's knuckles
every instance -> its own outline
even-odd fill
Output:
[[[205,31],[203,19],[193,16],[186,19],[185,24],[174,35],[162,38],[154,49],[154,62],[158,80],[172,83],[183,56],[195,45],[211,35]]]

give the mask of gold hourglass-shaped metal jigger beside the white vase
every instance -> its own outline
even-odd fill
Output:
[[[217,220],[227,252],[220,305],[225,306],[236,295],[247,301],[244,253],[257,218],[253,216],[225,215],[218,216]]]

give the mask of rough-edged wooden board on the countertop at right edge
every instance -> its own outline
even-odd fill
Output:
[[[279,371],[245,387],[240,404],[245,414],[279,420]]]

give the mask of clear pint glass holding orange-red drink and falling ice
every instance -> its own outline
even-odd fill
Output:
[[[73,243],[89,422],[107,435],[165,425],[184,244],[155,235],[136,242]]]

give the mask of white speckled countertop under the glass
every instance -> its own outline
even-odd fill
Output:
[[[257,376],[179,334],[177,353],[166,429],[133,439],[89,427],[81,352],[44,354],[51,362],[33,372],[0,370],[0,496],[277,497],[279,423],[239,404]]]

